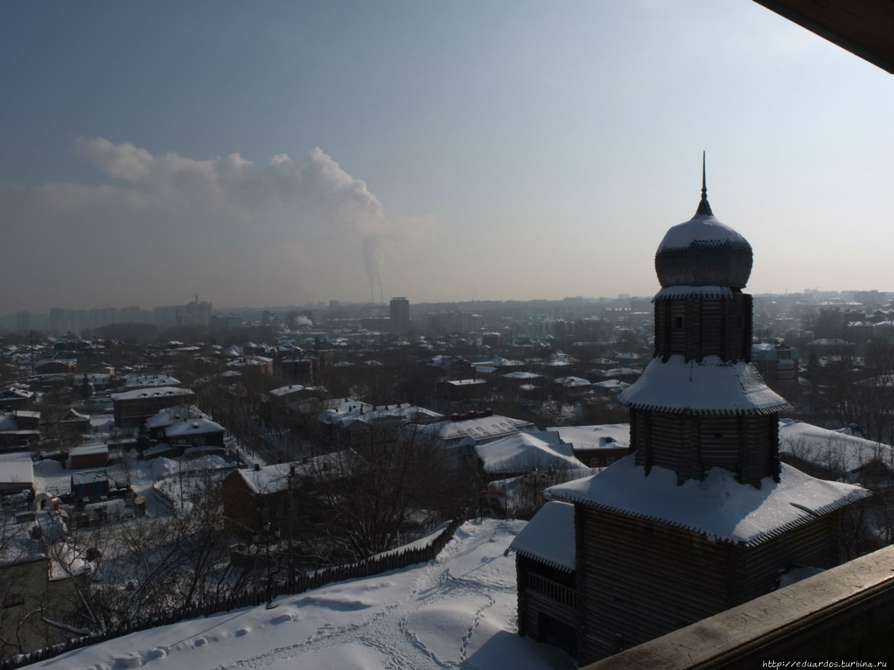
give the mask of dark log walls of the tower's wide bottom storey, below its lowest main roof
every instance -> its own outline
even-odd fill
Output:
[[[581,664],[768,593],[790,565],[839,564],[839,514],[753,547],[580,504],[575,525]]]

